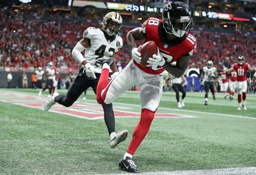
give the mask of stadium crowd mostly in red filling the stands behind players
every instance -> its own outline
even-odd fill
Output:
[[[52,61],[59,72],[77,70],[79,63],[73,61],[71,51],[82,33],[89,27],[101,27],[101,18],[66,18],[63,15],[39,15],[0,10],[0,67],[19,68],[34,71]],[[123,27],[120,35],[123,47],[115,53],[118,65],[125,66],[131,59],[126,44],[126,34],[133,27]],[[246,56],[246,62],[256,64],[256,37],[246,33],[234,34],[191,32],[197,39],[197,53],[192,57],[190,67],[202,68],[210,59],[218,69],[230,67],[238,54]],[[143,44],[143,41],[141,43]]]

